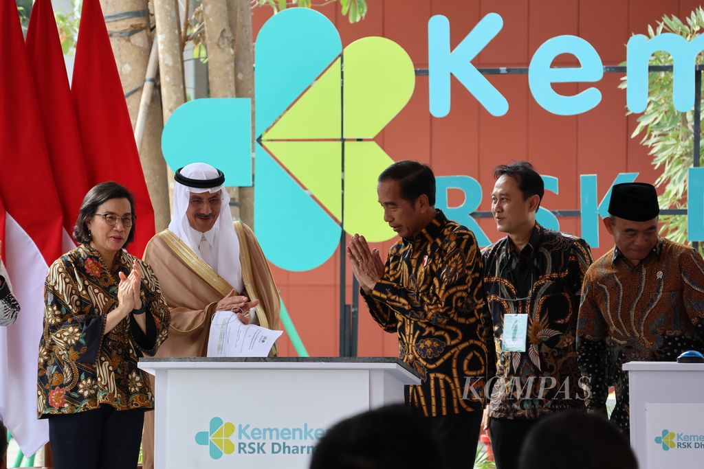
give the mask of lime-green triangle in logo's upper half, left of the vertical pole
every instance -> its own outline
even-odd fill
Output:
[[[262,135],[262,140],[339,139],[340,58]]]

